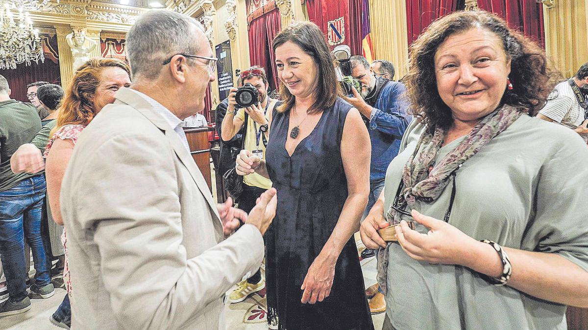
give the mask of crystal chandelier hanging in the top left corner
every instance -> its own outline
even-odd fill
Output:
[[[0,0],[0,70],[45,61],[39,32],[33,28],[22,0]],[[13,14],[18,11],[18,14]]]

